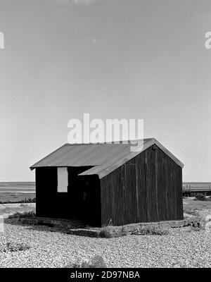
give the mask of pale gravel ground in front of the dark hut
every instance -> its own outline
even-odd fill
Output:
[[[87,238],[51,232],[47,226],[5,224],[0,233],[0,267],[63,267],[77,259],[102,255],[108,267],[211,267],[211,236],[191,228],[170,235]],[[7,242],[30,250],[3,252]]]

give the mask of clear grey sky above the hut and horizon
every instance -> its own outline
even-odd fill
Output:
[[[143,119],[211,181],[210,0],[0,0],[0,179],[68,142],[68,121]]]

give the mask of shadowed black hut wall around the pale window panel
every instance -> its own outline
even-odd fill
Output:
[[[77,176],[89,168],[68,167],[68,192],[57,192],[56,167],[36,168],[37,216],[79,219],[100,226],[100,180],[98,176]]]

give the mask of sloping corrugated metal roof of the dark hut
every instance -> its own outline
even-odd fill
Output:
[[[148,138],[142,141],[141,151],[132,152],[132,144],[124,143],[101,143],[101,144],[65,144],[56,149],[48,156],[41,159],[31,166],[31,169],[45,166],[94,166],[81,175],[98,174],[100,178],[121,166],[129,159],[140,154],[153,144],[158,145],[160,149],[165,151],[174,161],[181,167],[184,165],[172,155],[165,147],[163,147],[154,138]],[[132,142],[132,141],[131,141]]]

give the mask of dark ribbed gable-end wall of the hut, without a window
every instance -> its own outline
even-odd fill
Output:
[[[101,224],[183,219],[182,169],[156,145],[101,179]]]

